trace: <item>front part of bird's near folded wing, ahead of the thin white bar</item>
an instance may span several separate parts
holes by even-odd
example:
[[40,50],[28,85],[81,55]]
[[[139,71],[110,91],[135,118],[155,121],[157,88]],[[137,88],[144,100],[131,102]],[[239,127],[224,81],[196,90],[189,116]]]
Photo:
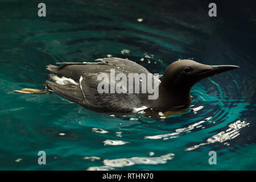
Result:
[[[80,86],[84,94],[84,104],[104,112],[111,113],[132,113],[137,108],[143,108],[137,94],[129,93],[99,93],[98,85],[102,80],[98,80],[100,73],[85,73],[80,78]],[[105,73],[110,77],[109,73]],[[104,79],[104,81],[106,81]],[[114,81],[115,82],[115,81]],[[114,82],[110,81],[109,88]],[[108,84],[109,82],[105,82]],[[116,84],[116,83],[115,83]],[[102,87],[101,87],[102,88]],[[125,92],[126,88],[122,88]]]

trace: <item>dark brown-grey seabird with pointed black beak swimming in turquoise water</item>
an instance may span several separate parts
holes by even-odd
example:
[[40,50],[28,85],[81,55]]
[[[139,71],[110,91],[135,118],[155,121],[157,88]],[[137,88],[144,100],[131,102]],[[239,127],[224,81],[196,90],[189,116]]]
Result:
[[[56,93],[87,109],[101,113],[128,114],[149,109],[161,112],[179,111],[187,109],[191,105],[190,90],[197,82],[203,78],[238,68],[236,65],[205,65],[193,60],[178,60],[168,65],[162,81],[160,81],[158,76],[148,72],[142,65],[116,57],[97,59],[93,63],[62,62],[56,64],[59,64],[60,67],[47,65],[48,71],[51,72],[50,79],[55,82],[47,80],[44,85],[45,90],[22,89],[14,91],[26,94]],[[123,91],[121,93],[99,93],[98,86],[102,80],[98,76],[101,73],[111,76],[110,69],[114,69],[114,75],[122,73],[129,77],[129,73],[143,73],[150,76],[152,79],[147,84],[156,83],[154,89],[158,90],[158,97],[149,99],[150,93],[148,92],[129,93],[127,91],[129,79],[125,80],[128,82],[128,86],[120,88]],[[118,85],[120,80],[110,81],[110,87]],[[133,82],[132,86],[139,87],[143,83],[140,80]]]

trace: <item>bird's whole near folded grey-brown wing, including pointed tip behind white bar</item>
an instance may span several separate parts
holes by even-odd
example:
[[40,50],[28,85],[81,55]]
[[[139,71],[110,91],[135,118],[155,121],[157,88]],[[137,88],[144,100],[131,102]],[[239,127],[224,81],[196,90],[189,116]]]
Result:
[[[98,80],[100,73],[85,73],[80,77],[80,83],[57,84],[56,82],[46,81],[46,88],[75,102],[81,106],[95,111],[105,113],[135,113],[146,109],[141,104],[138,94],[129,93],[99,93],[98,85],[102,80]],[[105,73],[110,77],[110,73]],[[107,84],[107,83],[106,83]],[[115,83],[116,84],[116,83]],[[110,86],[113,82],[110,82]],[[126,90],[126,88],[122,88]]]

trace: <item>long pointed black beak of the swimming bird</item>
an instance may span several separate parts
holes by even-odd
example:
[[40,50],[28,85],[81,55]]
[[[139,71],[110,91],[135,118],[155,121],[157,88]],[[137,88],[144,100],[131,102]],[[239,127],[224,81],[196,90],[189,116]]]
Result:
[[239,68],[239,67],[236,65],[210,65],[210,68],[207,71],[201,72],[197,76],[206,78],[206,77],[217,75],[219,73],[227,72],[236,68]]

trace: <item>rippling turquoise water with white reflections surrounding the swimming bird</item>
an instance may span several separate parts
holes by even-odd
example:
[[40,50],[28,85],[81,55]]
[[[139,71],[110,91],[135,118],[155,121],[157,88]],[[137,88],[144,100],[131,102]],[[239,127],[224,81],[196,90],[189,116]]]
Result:
[[[36,1],[1,1],[1,170],[256,169],[252,3],[217,3],[217,18],[200,1],[44,3],[47,16],[39,18]],[[200,81],[191,110],[162,119],[96,113],[56,94],[13,92],[42,89],[47,64],[107,56],[160,74],[178,59],[240,68]],[[38,164],[42,150],[46,165]],[[217,165],[208,163],[212,150]]]

